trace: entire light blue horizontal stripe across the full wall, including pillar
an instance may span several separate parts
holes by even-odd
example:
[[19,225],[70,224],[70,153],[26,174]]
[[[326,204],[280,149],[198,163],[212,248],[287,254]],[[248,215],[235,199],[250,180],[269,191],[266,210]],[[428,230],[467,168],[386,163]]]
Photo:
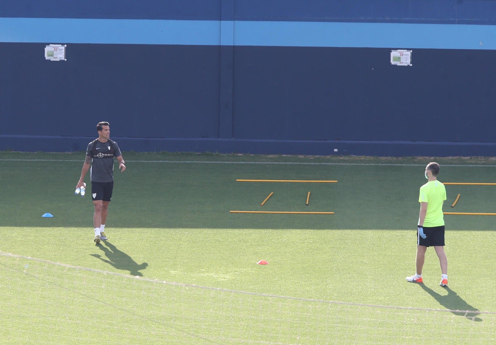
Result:
[[0,18],[0,42],[496,49],[496,26],[404,23]]

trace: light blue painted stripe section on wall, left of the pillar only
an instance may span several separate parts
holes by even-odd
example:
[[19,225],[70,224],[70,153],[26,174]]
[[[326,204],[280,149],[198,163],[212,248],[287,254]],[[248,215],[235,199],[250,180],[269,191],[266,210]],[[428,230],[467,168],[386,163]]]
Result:
[[213,20],[0,18],[0,42],[216,46],[219,32]]

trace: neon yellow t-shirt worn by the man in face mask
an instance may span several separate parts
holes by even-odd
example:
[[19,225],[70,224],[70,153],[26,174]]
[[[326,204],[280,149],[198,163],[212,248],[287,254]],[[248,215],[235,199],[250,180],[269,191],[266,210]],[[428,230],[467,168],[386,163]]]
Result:
[[429,181],[420,187],[419,202],[427,202],[427,214],[424,226],[444,225],[442,202],[446,200],[446,189],[439,181]]

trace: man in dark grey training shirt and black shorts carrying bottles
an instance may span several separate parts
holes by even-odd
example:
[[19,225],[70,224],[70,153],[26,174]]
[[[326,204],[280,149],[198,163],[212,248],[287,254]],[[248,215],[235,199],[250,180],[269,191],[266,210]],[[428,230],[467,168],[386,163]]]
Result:
[[90,169],[91,198],[95,206],[93,214],[93,225],[95,227],[95,243],[100,240],[107,240],[105,236],[105,223],[109,212],[109,203],[112,199],[114,188],[114,157],[119,162],[121,172],[125,170],[124,158],[117,143],[110,140],[110,124],[99,122],[96,126],[98,139],[88,144],[86,149],[86,160],[81,170],[81,177],[76,188],[80,188],[84,183],[84,176]]

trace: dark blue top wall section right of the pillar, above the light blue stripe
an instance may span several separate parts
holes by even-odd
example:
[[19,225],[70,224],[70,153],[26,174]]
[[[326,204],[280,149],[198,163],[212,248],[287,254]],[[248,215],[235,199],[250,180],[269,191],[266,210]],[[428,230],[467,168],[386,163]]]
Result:
[[495,24],[493,0],[245,0],[236,20]]

